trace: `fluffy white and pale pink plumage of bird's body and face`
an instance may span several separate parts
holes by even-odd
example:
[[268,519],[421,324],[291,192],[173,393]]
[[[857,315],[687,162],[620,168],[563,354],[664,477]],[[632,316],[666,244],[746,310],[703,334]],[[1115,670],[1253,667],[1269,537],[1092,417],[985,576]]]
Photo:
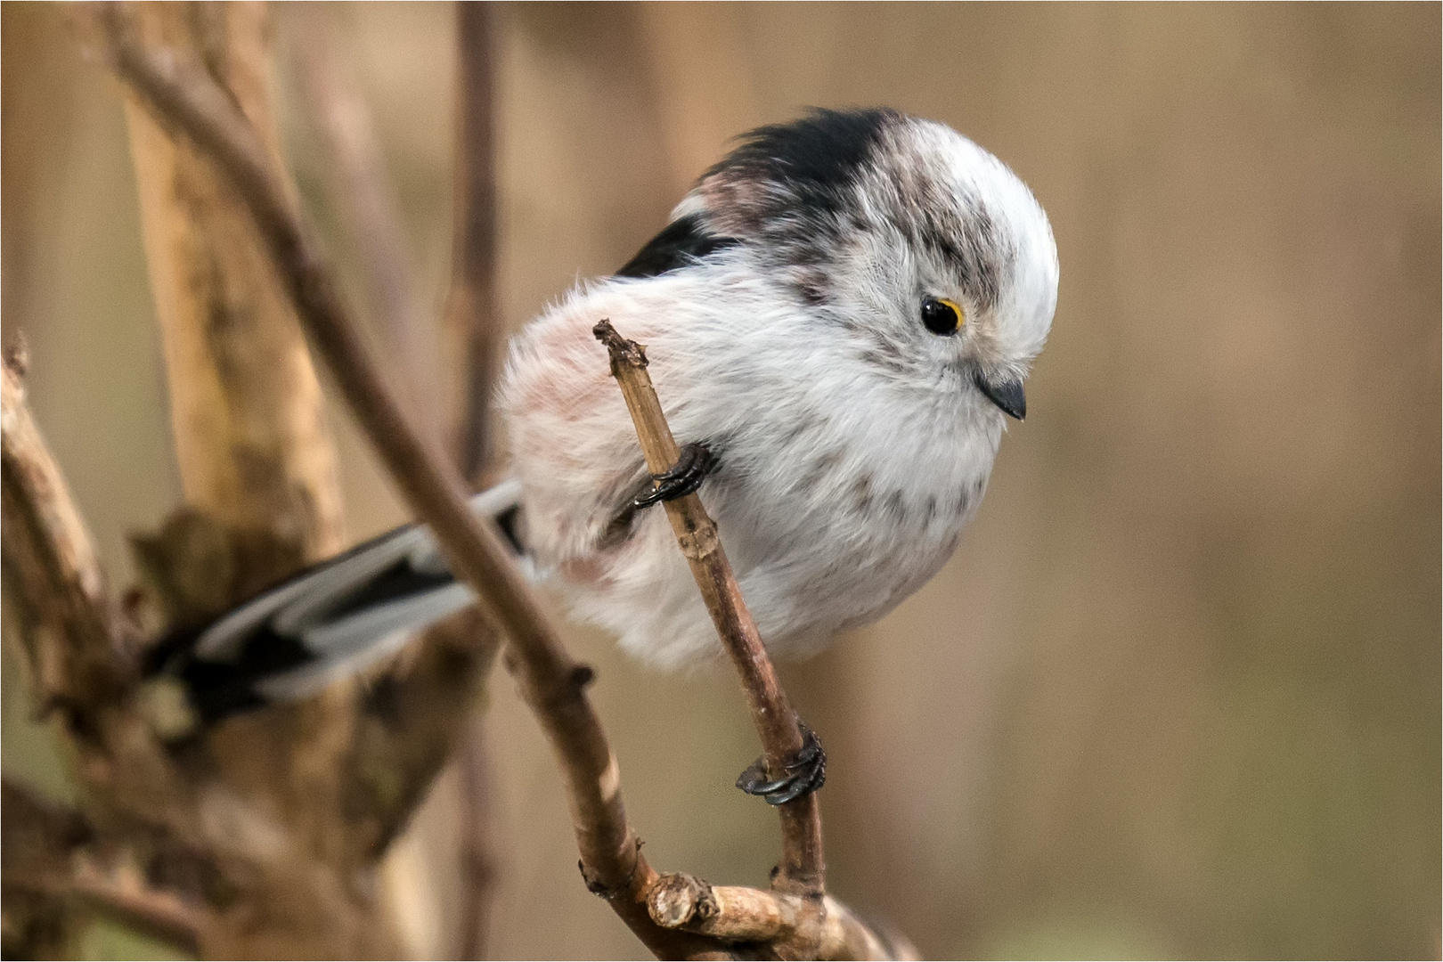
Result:
[[[889,224],[921,179],[954,198],[954,216],[990,224],[996,303]],[[996,157],[928,121],[892,130],[850,189],[880,229],[835,251],[825,304],[799,297],[772,251],[739,244],[661,277],[584,284],[512,345],[502,412],[527,547],[577,616],[649,662],[720,646],[659,511],[608,537],[646,475],[597,320],[646,345],[677,438],[717,449],[701,499],[775,653],[810,653],[921,587],[986,490],[1003,414],[955,366],[1022,378],[1042,349],[1058,283],[1046,216]],[[703,180],[672,218],[716,215],[719,193]],[[960,333],[924,329],[924,293],[965,307]]]

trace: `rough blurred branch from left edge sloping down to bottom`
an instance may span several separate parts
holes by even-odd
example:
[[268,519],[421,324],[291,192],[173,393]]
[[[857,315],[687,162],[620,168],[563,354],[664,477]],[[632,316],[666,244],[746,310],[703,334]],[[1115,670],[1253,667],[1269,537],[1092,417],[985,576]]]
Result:
[[[293,844],[289,826],[225,783],[203,754],[176,754],[159,741],[137,700],[146,688],[136,687],[127,655],[131,629],[110,614],[115,606],[94,587],[102,578],[94,552],[85,548],[84,525],[9,368],[0,394],[6,600],[19,603],[16,635],[33,662],[32,684],[40,697],[51,692],[62,710],[87,819],[100,832],[97,847],[104,847],[105,861],[134,864],[141,877],[165,878],[196,904],[244,906],[244,912],[209,916],[215,925],[202,933],[208,955],[267,958],[273,946],[286,945],[316,958],[395,958],[374,907],[346,899],[333,868],[319,862],[309,845]],[[278,746],[284,759],[287,747]],[[254,744],[248,754],[261,760],[257,767],[268,760]],[[9,802],[3,812],[12,813]],[[10,851],[0,845],[0,854]],[[23,914],[39,923],[26,926],[39,929],[25,936],[29,940],[43,939],[45,929],[55,932],[65,917],[56,914],[56,904],[79,906],[79,896],[71,897],[71,878],[46,890],[33,884],[38,877],[7,870],[0,878],[12,891],[19,891],[13,883],[32,883],[17,894],[19,903],[29,904]],[[81,881],[85,899],[105,901],[101,907],[113,914],[143,907],[110,899],[105,884]]]

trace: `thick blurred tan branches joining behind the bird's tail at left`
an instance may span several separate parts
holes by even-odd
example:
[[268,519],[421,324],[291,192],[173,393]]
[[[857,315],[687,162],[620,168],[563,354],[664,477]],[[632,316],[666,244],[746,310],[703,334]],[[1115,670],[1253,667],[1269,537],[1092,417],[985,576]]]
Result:
[[[264,14],[260,4],[140,4],[84,9],[76,26],[101,49],[154,45],[167,65],[205,78],[214,102],[251,118],[241,121],[254,131],[248,147],[270,167]],[[266,238],[188,140],[137,111],[131,128],[190,500],[136,548],[156,620],[183,625],[339,548],[339,498],[319,385]],[[293,211],[289,185],[273,186]],[[446,760],[495,633],[463,613],[449,639],[429,636],[365,692],[333,687],[192,731],[182,701],[139,684],[137,630],[105,593],[29,418],[23,365],[7,361],[6,597],[36,700],[76,754],[91,826],[72,839],[72,858],[55,861],[69,874],[6,900],[7,946],[22,933],[72,952],[76,910],[100,909],[149,919],[152,933],[212,958],[394,958],[391,916],[368,880]],[[14,822],[36,811],[6,805],[7,837],[51,838]]]

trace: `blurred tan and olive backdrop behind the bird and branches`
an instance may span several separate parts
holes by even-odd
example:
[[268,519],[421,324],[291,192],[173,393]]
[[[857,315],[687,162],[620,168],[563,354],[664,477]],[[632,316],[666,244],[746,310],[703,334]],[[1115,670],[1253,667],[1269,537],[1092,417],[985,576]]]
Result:
[[[289,160],[325,226],[326,156],[286,66],[316,12],[274,13]],[[455,9],[320,13],[439,314]],[[498,16],[511,329],[628,260],[729,137],[807,105],[945,121],[1052,218],[1062,288],[1030,417],[957,557],[785,669],[830,757],[834,894],[932,958],[1439,958],[1439,6]],[[0,37],[3,322],[124,586],[126,534],[179,499],[124,115],[63,10],[4,3]],[[332,424],[349,535],[405,521],[335,404]],[[778,831],[732,787],[756,756],[734,681],[570,643],[597,668],[651,862],[765,884]],[[72,790],[30,711],[6,671],[6,770]],[[488,953],[641,958],[580,884],[554,763],[504,672],[482,724]],[[455,867],[424,828],[444,789],[392,860],[434,955]],[[117,946],[95,950],[150,950]]]

